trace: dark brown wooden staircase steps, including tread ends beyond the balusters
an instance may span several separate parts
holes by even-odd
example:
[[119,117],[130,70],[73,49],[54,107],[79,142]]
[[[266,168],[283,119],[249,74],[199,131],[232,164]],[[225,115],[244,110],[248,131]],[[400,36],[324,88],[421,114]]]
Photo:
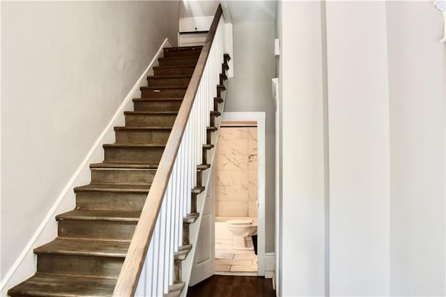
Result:
[[[76,208],[56,216],[58,237],[34,250],[36,274],[10,289],[10,296],[112,296],[201,48],[164,49],[148,86],[141,87],[141,98],[133,99],[134,110],[124,113],[125,125],[114,128],[116,142],[104,144],[104,162],[90,165],[91,183],[74,189]],[[169,296],[179,296],[185,285],[180,265],[191,249],[189,224],[199,215],[196,199],[204,190],[201,174],[210,167],[206,151],[213,148],[210,135],[217,130],[229,59],[224,56]]]

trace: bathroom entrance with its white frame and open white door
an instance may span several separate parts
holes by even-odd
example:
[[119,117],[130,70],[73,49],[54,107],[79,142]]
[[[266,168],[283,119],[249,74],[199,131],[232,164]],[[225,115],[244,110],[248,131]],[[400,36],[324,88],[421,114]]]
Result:
[[[199,218],[190,286],[214,274],[265,275],[265,116],[265,112],[223,112],[220,117],[222,137],[213,139],[216,151]],[[222,171],[226,174],[218,176]],[[257,239],[257,254],[252,236]]]

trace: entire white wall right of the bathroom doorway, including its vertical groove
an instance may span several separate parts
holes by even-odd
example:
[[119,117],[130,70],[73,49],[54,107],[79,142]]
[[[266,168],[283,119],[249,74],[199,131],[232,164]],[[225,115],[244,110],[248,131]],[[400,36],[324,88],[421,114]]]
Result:
[[429,1],[322,3],[277,13],[282,296],[445,296],[442,15]]

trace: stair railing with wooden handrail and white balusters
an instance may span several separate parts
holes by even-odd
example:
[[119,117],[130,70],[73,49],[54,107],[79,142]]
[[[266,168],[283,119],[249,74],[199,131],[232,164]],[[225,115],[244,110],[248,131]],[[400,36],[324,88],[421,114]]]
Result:
[[[174,280],[174,253],[183,245],[183,218],[191,213],[206,127],[224,61],[219,5],[183,104],[167,140],[141,217],[118,277],[114,296],[163,296]],[[206,152],[205,152],[206,153]]]

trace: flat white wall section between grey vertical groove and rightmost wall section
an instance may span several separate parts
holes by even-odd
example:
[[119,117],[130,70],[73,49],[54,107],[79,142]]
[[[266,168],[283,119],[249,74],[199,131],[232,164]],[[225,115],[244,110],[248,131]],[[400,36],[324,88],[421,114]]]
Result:
[[384,2],[327,2],[330,295],[389,293]]

